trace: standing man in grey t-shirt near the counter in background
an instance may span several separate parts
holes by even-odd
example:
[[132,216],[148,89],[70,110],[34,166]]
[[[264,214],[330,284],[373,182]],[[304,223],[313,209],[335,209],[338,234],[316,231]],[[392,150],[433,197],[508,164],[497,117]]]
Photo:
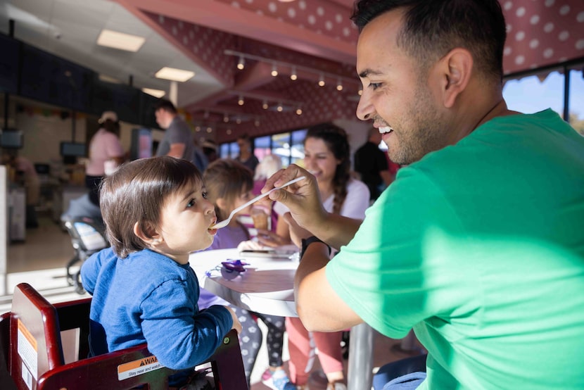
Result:
[[207,159],[202,151],[197,151],[193,133],[189,125],[179,116],[172,102],[160,99],[155,106],[156,122],[165,129],[163,140],[158,144],[156,156],[172,156],[191,161],[198,170],[207,168]]

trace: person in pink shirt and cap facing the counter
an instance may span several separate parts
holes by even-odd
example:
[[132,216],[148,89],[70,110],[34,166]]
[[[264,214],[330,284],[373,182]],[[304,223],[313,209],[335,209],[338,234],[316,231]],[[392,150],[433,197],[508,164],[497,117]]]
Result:
[[89,200],[99,206],[99,183],[111,170],[125,161],[120,143],[120,122],[114,111],[104,111],[99,118],[100,128],[89,142],[89,163],[85,168],[85,185]]

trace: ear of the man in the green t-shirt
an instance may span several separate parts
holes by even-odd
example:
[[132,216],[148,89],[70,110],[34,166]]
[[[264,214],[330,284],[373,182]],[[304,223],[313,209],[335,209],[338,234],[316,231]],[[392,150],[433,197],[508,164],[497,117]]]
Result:
[[474,67],[472,55],[470,51],[457,47],[440,59],[436,66],[443,106],[452,108],[471,80]]

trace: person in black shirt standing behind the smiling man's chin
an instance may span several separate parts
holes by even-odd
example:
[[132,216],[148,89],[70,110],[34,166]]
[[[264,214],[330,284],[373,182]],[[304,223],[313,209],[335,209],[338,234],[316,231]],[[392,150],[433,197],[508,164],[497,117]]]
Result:
[[361,175],[361,181],[369,187],[369,200],[374,201],[381,191],[393,182],[389,172],[386,153],[379,149],[381,133],[375,127],[369,129],[369,138],[355,152],[355,171]]

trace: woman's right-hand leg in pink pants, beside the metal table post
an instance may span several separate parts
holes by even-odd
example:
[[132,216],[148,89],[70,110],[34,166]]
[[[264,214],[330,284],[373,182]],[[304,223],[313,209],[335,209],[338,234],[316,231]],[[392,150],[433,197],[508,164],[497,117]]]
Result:
[[345,382],[343,374],[343,332],[312,332],[318,348],[318,359],[330,384]]

